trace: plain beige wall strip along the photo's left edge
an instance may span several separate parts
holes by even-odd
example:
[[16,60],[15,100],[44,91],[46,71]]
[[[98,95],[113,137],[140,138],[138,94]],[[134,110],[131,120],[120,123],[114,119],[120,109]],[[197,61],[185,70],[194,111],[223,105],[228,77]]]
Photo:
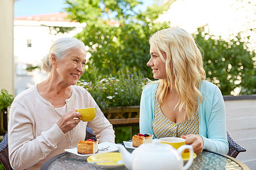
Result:
[[0,1],[0,90],[14,94],[13,18],[14,1]]

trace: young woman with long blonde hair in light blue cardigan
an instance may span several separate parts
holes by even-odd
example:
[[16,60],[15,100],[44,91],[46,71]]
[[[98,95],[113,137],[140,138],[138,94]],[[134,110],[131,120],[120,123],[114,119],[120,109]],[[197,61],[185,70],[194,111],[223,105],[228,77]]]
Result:
[[220,89],[205,81],[203,57],[195,40],[181,28],[150,37],[155,82],[143,88],[140,133],[154,138],[181,137],[195,153],[228,152],[225,106]]

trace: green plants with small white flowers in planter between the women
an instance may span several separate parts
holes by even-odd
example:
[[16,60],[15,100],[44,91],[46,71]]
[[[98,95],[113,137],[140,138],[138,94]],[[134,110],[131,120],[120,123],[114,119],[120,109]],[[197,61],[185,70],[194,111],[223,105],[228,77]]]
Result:
[[85,71],[77,85],[84,87],[101,109],[139,105],[142,87],[148,81],[140,71],[118,71],[108,76],[101,75],[94,66],[89,70]]

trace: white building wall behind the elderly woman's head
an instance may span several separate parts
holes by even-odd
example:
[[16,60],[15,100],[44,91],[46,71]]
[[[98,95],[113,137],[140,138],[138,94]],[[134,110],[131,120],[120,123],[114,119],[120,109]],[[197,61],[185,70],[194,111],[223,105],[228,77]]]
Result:
[[[52,33],[50,26],[76,27],[68,33]],[[84,24],[71,22],[14,20],[15,95],[47,78],[43,70],[27,71],[30,66],[39,66],[49,52],[52,42],[60,37],[73,37],[82,31]],[[27,45],[31,42],[31,46]]]

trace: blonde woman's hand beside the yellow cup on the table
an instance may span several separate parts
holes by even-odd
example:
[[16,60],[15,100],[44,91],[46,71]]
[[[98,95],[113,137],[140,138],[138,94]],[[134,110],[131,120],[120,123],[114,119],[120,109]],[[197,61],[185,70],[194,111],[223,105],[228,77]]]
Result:
[[201,152],[203,152],[204,140],[200,135],[181,135],[181,138],[185,139],[186,144],[189,144],[193,147],[193,150],[196,154],[200,154]]

